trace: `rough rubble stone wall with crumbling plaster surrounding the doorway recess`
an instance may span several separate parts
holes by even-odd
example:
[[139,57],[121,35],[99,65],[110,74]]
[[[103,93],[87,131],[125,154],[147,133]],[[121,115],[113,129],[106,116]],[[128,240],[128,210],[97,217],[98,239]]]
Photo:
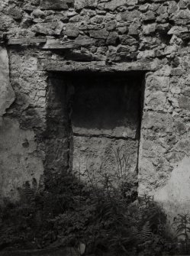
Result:
[[189,42],[188,0],[1,1],[1,196],[69,167],[69,117],[50,73],[131,71],[145,86],[138,192],[170,215],[189,210]]

